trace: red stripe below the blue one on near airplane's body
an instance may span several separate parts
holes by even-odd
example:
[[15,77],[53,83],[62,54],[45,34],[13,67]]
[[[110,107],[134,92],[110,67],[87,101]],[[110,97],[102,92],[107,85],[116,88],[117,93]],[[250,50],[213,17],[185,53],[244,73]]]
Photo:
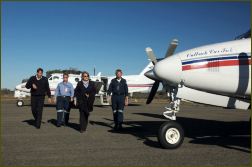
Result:
[[249,60],[215,61],[215,62],[206,62],[205,64],[201,63],[201,64],[185,65],[182,67],[182,71],[200,69],[200,68],[240,66],[240,65],[251,65],[251,59],[249,59]]

